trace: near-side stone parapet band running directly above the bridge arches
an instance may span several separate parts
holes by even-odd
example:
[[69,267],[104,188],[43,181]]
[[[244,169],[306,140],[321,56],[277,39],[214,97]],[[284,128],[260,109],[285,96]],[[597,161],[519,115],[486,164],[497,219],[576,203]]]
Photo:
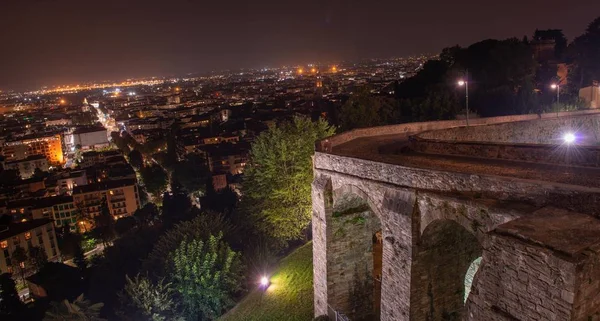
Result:
[[498,176],[403,167],[315,153],[315,168],[336,177],[348,175],[398,187],[439,192],[469,192],[505,201],[556,206],[600,216],[600,189]]

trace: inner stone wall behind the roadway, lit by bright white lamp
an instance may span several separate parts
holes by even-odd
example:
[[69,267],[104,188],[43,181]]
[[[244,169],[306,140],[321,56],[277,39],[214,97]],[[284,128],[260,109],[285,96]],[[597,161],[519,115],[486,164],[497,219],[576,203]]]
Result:
[[576,143],[580,145],[600,144],[600,114],[448,128],[426,131],[418,137],[442,141],[560,145],[565,133],[574,133]]

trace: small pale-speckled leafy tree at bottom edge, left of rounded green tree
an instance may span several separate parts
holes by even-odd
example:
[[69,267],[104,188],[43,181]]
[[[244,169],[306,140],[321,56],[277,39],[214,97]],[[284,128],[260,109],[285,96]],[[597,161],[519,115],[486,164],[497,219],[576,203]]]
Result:
[[147,277],[125,276],[125,287],[119,293],[121,309],[117,315],[123,320],[176,321],[179,306],[171,283],[164,279],[152,283]]

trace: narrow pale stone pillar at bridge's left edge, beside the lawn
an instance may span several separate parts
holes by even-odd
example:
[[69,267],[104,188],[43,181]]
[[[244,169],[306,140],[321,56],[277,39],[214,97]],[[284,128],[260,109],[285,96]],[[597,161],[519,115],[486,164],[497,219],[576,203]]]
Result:
[[331,180],[316,176],[312,184],[313,284],[315,317],[327,311],[327,208],[331,208]]

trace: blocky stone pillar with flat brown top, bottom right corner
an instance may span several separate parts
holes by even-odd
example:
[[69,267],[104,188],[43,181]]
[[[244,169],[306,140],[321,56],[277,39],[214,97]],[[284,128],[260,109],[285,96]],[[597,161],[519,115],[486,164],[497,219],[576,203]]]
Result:
[[467,320],[597,320],[600,221],[558,209],[490,233]]

